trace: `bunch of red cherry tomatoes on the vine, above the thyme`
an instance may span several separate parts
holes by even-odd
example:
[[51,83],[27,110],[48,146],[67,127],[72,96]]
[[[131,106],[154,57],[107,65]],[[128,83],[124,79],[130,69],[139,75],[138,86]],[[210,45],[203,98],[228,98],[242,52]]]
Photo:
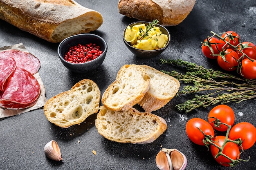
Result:
[[252,42],[241,42],[234,31],[208,36],[202,42],[202,52],[208,58],[217,59],[222,69],[236,70],[246,79],[256,79],[256,46]]

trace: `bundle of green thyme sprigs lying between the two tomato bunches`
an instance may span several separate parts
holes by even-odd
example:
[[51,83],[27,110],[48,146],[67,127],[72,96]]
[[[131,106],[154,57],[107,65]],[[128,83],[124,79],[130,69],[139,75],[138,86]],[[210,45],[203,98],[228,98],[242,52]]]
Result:
[[[160,59],[162,64],[171,64],[183,67],[186,73],[176,71],[162,72],[177,78],[186,84],[177,95],[195,94],[191,100],[177,104],[180,111],[186,113],[199,107],[207,107],[217,103],[240,103],[245,100],[256,98],[256,80],[247,80],[231,74],[223,73],[213,69],[207,69],[195,63],[190,63],[181,59]],[[206,94],[201,94],[205,92]]]

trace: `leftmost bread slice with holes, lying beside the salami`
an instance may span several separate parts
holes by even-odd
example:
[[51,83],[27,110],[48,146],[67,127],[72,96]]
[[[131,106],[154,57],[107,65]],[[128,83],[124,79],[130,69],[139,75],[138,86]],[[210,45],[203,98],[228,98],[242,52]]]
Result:
[[101,92],[96,83],[83,79],[70,90],[50,98],[44,106],[48,121],[61,128],[79,124],[99,111]]

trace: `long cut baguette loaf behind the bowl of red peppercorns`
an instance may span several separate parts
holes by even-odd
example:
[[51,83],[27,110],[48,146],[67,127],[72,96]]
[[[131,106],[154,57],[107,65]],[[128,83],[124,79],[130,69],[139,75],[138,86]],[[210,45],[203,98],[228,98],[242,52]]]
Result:
[[49,42],[98,29],[103,18],[73,0],[0,0],[0,19]]

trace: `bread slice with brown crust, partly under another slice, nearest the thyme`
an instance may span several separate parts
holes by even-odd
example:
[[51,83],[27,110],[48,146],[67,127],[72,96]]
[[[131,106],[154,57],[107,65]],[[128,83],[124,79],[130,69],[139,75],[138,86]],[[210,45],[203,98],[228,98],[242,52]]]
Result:
[[172,76],[164,74],[148,65],[140,65],[150,77],[148,92],[139,101],[139,105],[146,111],[152,112],[166,105],[177,94],[180,82]]

